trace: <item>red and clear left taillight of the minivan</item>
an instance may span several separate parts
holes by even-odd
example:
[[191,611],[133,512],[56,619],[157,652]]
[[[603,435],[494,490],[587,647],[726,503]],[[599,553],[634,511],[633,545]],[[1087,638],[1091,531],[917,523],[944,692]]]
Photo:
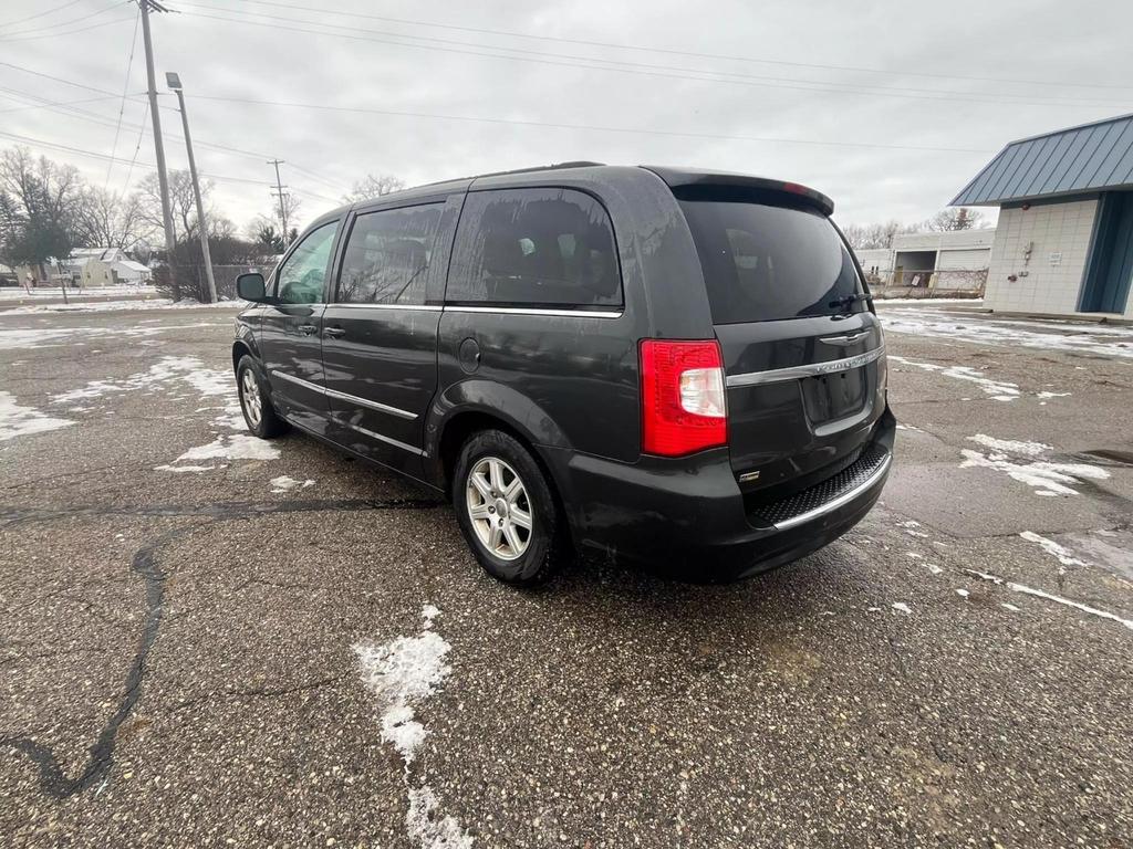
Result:
[[641,343],[641,451],[675,457],[727,444],[719,343]]

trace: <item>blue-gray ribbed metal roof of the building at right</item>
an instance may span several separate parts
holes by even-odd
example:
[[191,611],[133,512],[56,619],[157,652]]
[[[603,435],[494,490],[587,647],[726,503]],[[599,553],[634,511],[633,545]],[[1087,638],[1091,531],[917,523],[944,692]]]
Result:
[[1012,142],[951,206],[1117,188],[1133,188],[1133,114]]

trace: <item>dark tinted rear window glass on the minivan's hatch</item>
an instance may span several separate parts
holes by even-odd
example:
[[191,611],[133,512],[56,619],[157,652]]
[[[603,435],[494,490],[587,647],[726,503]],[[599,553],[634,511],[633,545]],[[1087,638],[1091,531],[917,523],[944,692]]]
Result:
[[861,311],[850,251],[818,212],[742,200],[681,200],[714,324]]

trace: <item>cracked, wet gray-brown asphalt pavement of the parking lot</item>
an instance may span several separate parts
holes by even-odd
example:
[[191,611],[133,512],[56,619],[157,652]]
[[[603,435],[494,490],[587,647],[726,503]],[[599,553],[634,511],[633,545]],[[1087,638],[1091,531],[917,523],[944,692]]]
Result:
[[[231,329],[0,315],[0,844],[1133,844],[1127,328],[891,333],[896,463],[845,538],[535,592],[393,474],[246,456]],[[428,629],[407,762],[355,646]]]

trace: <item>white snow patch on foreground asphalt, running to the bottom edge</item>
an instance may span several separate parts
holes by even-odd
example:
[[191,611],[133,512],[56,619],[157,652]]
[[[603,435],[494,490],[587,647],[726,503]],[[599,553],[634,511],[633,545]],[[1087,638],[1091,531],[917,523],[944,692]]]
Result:
[[[406,829],[421,849],[470,849],[472,838],[452,816],[437,814],[440,800],[424,781],[414,783],[409,766],[427,730],[416,719],[416,710],[432,696],[452,668],[444,662],[451,646],[433,631],[441,611],[432,604],[421,609],[424,627],[415,637],[353,646],[361,667],[363,683],[382,707],[382,739],[393,745],[406,764],[404,782],[409,795]],[[423,775],[424,779],[424,775]]]

